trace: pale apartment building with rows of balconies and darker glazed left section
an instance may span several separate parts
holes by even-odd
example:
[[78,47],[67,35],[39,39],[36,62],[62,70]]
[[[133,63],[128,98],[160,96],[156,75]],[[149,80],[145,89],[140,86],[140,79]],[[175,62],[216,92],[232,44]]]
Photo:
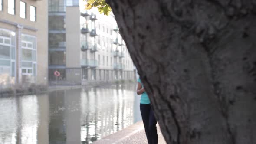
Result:
[[49,82],[86,85],[134,79],[114,16],[85,10],[85,4],[49,0]]

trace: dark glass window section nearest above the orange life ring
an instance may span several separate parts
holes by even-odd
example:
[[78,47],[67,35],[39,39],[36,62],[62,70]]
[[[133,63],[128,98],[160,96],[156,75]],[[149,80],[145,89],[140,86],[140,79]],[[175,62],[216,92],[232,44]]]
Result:
[[65,51],[49,51],[49,65],[66,65]]

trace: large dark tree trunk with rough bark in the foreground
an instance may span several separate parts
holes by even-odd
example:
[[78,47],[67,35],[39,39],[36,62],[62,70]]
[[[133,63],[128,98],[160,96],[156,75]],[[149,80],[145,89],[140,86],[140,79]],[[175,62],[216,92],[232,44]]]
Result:
[[256,0],[106,0],[168,144],[256,144]]

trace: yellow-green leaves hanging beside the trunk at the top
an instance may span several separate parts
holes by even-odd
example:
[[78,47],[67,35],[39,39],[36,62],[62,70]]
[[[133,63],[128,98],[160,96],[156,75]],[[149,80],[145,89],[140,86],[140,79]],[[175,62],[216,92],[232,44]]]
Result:
[[86,9],[90,10],[92,7],[97,7],[100,13],[108,15],[111,12],[111,7],[105,0],[87,0]]

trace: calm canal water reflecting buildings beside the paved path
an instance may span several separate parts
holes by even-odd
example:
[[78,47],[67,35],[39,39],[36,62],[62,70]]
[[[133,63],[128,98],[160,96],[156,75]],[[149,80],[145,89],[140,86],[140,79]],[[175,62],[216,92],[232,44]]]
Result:
[[135,84],[0,98],[0,144],[89,144],[141,120]]

